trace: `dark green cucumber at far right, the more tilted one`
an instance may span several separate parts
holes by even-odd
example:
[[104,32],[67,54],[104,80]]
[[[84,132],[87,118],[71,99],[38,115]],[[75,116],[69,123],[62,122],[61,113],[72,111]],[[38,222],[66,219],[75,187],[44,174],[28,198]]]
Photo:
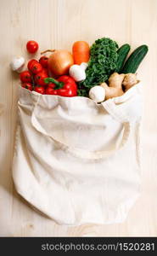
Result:
[[144,56],[147,54],[149,47],[145,44],[139,46],[132,52],[132,55],[127,59],[122,73],[136,73],[139,64],[143,61]]

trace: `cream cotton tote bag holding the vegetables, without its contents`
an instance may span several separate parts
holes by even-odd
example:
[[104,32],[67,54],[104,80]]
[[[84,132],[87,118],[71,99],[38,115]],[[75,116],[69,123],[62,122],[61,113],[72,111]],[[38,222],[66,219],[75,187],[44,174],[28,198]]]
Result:
[[140,192],[141,84],[97,104],[20,87],[13,178],[58,224],[114,224]]

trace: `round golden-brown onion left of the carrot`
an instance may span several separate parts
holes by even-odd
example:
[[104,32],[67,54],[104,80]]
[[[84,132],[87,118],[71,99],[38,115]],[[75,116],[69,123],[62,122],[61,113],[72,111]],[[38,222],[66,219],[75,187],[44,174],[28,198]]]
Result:
[[64,49],[55,50],[48,58],[48,67],[55,76],[68,74],[70,66],[73,64],[73,56]]

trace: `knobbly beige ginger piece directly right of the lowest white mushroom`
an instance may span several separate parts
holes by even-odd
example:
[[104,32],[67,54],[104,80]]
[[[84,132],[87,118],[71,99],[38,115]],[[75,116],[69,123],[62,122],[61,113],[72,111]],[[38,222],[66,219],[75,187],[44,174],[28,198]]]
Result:
[[122,81],[125,74],[113,73],[109,77],[109,86],[106,83],[100,84],[105,89],[105,100],[109,98],[122,96],[124,91],[122,90]]

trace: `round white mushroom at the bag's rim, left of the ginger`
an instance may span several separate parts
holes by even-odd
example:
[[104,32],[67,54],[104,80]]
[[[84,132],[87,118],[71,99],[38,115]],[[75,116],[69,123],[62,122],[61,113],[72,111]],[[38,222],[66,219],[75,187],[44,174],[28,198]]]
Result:
[[105,89],[104,87],[100,85],[93,86],[89,90],[89,97],[94,101],[94,102],[104,102],[105,99]]

